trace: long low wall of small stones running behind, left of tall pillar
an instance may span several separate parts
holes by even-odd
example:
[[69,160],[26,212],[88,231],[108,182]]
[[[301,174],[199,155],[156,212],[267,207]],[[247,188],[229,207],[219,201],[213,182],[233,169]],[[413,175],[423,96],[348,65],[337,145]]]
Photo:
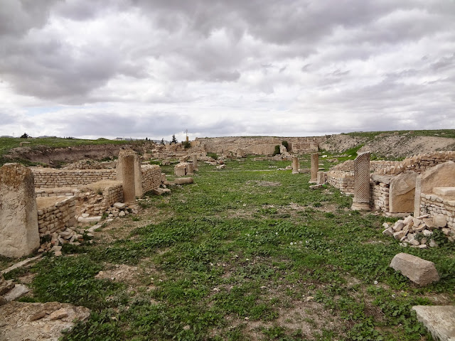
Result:
[[36,188],[77,187],[100,180],[117,180],[115,169],[31,168]]

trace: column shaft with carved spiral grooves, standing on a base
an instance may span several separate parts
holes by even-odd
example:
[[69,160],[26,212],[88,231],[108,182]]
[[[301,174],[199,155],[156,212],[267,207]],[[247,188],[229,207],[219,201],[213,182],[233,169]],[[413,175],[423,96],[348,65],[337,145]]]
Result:
[[351,210],[370,210],[370,152],[354,160],[354,199]]

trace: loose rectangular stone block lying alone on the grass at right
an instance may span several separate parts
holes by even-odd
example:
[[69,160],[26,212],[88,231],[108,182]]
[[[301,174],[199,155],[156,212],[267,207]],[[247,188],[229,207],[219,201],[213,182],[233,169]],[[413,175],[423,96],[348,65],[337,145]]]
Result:
[[390,267],[419,286],[439,281],[439,275],[432,261],[426,261],[412,254],[400,253],[393,257]]

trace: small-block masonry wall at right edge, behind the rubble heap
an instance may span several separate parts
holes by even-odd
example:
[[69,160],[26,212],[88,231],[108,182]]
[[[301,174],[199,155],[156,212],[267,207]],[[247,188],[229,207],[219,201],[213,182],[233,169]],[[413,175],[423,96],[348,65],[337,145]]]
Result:
[[[447,227],[451,230],[451,235],[455,236],[455,200],[453,197],[447,199],[436,194],[424,194],[421,195],[420,200],[420,214],[421,215],[444,215],[447,222]],[[443,229],[444,231],[444,229]],[[445,234],[449,234],[444,231]]]

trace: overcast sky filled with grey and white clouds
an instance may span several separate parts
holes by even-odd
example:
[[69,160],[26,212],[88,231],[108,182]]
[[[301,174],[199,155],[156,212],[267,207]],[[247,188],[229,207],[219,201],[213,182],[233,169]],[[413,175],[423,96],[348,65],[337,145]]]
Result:
[[455,128],[455,0],[0,0],[0,135]]

